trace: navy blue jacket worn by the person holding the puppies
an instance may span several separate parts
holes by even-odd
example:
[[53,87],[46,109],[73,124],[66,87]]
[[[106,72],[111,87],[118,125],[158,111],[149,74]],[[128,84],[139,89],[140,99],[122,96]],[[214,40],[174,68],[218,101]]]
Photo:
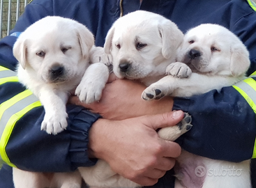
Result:
[[[24,31],[27,26],[47,15],[59,15],[85,24],[94,34],[96,45],[103,46],[112,23],[121,14],[139,9],[171,19],[184,33],[202,23],[227,27],[248,47],[251,61],[248,75],[256,70],[256,12],[245,0],[144,0],[142,4],[139,0],[123,0],[121,3],[117,0],[34,0],[27,6],[11,34]],[[7,36],[0,41],[0,65],[11,70],[17,64],[12,53],[16,39],[16,36]],[[17,83],[1,85],[0,104],[23,90]],[[72,171],[77,166],[93,165],[95,161],[86,154],[88,132],[99,116],[82,107],[68,105],[67,108],[68,130],[56,136],[40,131],[43,107],[24,115],[16,123],[6,146],[10,162],[20,169],[32,171]],[[253,157],[255,111],[232,86],[220,92],[176,98],[173,109],[188,111],[193,116],[193,129],[178,140],[184,149],[197,155],[232,162]],[[4,166],[0,171],[0,187],[13,188],[10,175],[10,169]],[[167,172],[153,187],[172,187],[173,180],[172,171]]]

